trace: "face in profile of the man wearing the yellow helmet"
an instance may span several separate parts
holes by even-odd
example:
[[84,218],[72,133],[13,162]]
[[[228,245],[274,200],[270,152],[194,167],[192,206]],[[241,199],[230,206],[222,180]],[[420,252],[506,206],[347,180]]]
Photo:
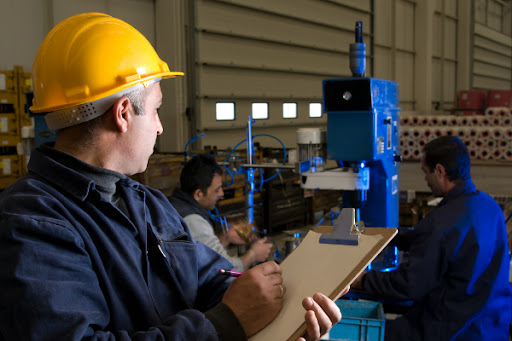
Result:
[[[163,132],[158,109],[162,104],[160,83],[154,83],[146,89],[144,113],[133,116],[132,132],[129,136],[128,153],[133,165],[133,174],[146,170],[149,157],[153,154],[156,137]],[[133,108],[132,108],[133,111]],[[131,173],[130,172],[130,173]]]

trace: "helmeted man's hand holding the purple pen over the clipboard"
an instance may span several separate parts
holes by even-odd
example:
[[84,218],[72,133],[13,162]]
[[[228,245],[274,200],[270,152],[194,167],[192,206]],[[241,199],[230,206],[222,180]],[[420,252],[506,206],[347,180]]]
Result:
[[285,292],[281,267],[275,262],[266,262],[231,282],[222,302],[235,313],[250,337],[277,316]]

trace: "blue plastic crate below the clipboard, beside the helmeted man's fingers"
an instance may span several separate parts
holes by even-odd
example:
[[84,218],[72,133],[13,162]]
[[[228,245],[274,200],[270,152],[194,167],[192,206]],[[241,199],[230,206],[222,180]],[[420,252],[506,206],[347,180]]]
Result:
[[380,302],[336,300],[342,319],[335,324],[330,340],[381,341],[384,340],[384,309]]

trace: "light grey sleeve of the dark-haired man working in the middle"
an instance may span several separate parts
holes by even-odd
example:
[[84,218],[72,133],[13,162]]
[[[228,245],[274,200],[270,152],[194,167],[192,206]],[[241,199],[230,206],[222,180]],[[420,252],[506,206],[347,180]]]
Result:
[[205,244],[212,250],[219,253],[222,257],[226,258],[236,270],[244,271],[244,264],[239,257],[232,257],[228,254],[224,246],[222,246],[219,238],[215,235],[213,228],[199,214],[190,214],[184,218],[187,226],[190,229],[192,237]]

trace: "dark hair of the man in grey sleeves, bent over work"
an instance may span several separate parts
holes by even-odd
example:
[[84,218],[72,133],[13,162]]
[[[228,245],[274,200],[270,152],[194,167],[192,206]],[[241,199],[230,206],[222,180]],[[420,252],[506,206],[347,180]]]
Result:
[[222,175],[222,168],[209,155],[196,155],[185,163],[180,175],[181,190],[189,194],[196,189],[206,193],[215,174]]

